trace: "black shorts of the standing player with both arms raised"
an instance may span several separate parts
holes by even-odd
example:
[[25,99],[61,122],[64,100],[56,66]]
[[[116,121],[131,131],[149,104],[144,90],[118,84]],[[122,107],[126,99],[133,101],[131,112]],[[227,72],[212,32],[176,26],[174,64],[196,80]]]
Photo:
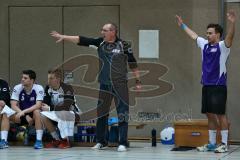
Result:
[[202,87],[202,113],[225,114],[226,101],[226,86]]

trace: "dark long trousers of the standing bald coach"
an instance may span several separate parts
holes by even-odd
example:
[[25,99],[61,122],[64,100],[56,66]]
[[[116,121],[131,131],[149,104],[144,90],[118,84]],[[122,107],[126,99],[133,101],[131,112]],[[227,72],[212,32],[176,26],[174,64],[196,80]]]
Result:
[[120,82],[114,85],[100,84],[98,108],[97,108],[97,143],[106,145],[106,133],[108,130],[108,116],[112,99],[114,98],[119,129],[119,145],[127,146],[128,141],[128,116],[129,96],[127,82]]

